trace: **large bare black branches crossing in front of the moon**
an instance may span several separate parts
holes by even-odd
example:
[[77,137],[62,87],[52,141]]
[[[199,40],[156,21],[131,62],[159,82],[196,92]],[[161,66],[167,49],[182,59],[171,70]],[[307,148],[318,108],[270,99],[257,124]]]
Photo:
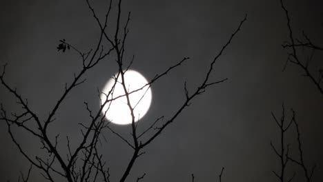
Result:
[[[131,14],[128,12],[126,20],[121,18],[123,12],[121,8],[121,0],[119,0],[117,1],[117,12],[115,14],[116,18],[111,21],[110,19],[113,17],[111,15],[112,1],[108,1],[104,21],[100,21],[97,16],[97,12],[94,8],[92,8],[90,1],[86,0],[86,4],[90,12],[92,12],[92,16],[97,22],[97,25],[99,26],[99,39],[97,39],[93,48],[90,48],[85,52],[77,48],[76,45],[66,41],[66,39],[59,40],[57,50],[62,50],[64,54],[67,54],[70,51],[77,52],[79,57],[81,57],[79,65],[80,68],[77,73],[74,73],[72,81],[70,81],[70,83],[65,83],[63,94],[61,94],[54,107],[49,111],[48,117],[40,118],[36,112],[30,108],[28,105],[28,100],[25,99],[26,97],[21,96],[21,93],[17,89],[13,88],[10,83],[7,83],[5,77],[7,65],[3,66],[3,70],[0,74],[1,85],[3,85],[3,87],[12,94],[12,96],[17,100],[17,105],[20,105],[22,108],[22,112],[14,112],[10,110],[9,112],[11,114],[8,114],[8,110],[6,110],[6,108],[1,104],[0,120],[6,121],[8,126],[8,134],[10,135],[14,145],[17,146],[19,152],[31,164],[30,170],[28,170],[28,175],[26,177],[21,175],[21,179],[23,181],[28,181],[28,179],[30,179],[30,172],[32,167],[34,167],[41,172],[43,179],[52,182],[59,181],[57,176],[65,179],[68,182],[110,182],[110,168],[104,161],[104,154],[101,154],[100,151],[101,140],[105,140],[105,136],[103,134],[105,130],[110,131],[112,134],[118,136],[121,141],[126,143],[130,149],[133,150],[133,154],[126,165],[125,170],[119,177],[120,182],[126,181],[135,165],[135,161],[139,158],[139,156],[145,154],[143,151],[144,148],[157,139],[157,136],[159,136],[161,132],[163,132],[168,125],[170,125],[170,123],[173,123],[179,114],[182,114],[183,110],[185,110],[188,105],[193,102],[193,99],[206,92],[207,88],[227,80],[227,78],[225,78],[220,79],[219,81],[211,81],[210,75],[212,72],[214,72],[217,59],[222,56],[222,53],[226,50],[226,48],[228,48],[228,45],[231,44],[246,21],[246,16],[244,16],[226,43],[224,43],[223,47],[210,61],[208,71],[204,73],[204,79],[196,88],[194,88],[194,92],[188,93],[185,83],[184,94],[186,99],[184,99],[182,104],[179,105],[179,108],[175,110],[175,114],[173,114],[170,119],[165,119],[165,121],[164,117],[152,120],[148,128],[142,128],[141,132],[139,132],[140,126],[138,126],[138,123],[136,123],[133,112],[136,105],[132,105],[130,103],[130,95],[138,92],[139,90],[143,90],[144,88],[151,87],[151,85],[159,81],[159,79],[166,77],[168,72],[172,72],[179,66],[182,66],[184,62],[188,61],[189,57],[184,57],[183,59],[177,61],[177,63],[174,65],[170,65],[165,69],[164,72],[155,74],[155,77],[150,79],[146,85],[142,85],[137,90],[129,91],[126,87],[128,83],[124,79],[124,74],[130,68],[130,65],[132,65],[134,57],[132,60],[130,60],[130,63],[126,65],[127,60],[124,59],[124,54],[126,52],[126,40],[129,32],[128,26],[131,20]],[[107,31],[108,26],[110,30],[114,30],[112,33]],[[106,48],[107,45],[108,48]],[[118,67],[117,74],[113,76],[113,79],[115,80],[114,85],[108,91],[108,93],[101,93],[106,96],[106,99],[102,101],[101,98],[99,98],[102,102],[100,102],[101,105],[98,110],[92,110],[88,103],[84,101],[85,110],[88,113],[88,121],[79,123],[79,131],[81,132],[82,136],[81,139],[75,143],[76,147],[72,148],[70,137],[66,136],[66,150],[58,150],[59,146],[64,145],[60,142],[61,136],[59,135],[59,131],[55,135],[51,135],[48,132],[49,128],[55,124],[55,117],[58,113],[57,111],[61,108],[62,103],[66,101],[68,95],[70,95],[70,93],[73,92],[78,85],[86,83],[85,74],[89,70],[92,70],[92,68],[95,68],[101,61],[108,61],[110,59],[108,55],[115,56],[115,61]],[[121,79],[121,85],[124,93],[117,97],[113,97],[118,78]],[[108,110],[104,111],[105,106],[108,105],[109,109],[111,103],[121,97],[126,98],[126,104],[128,105],[132,118],[130,131],[131,139],[128,139],[125,136],[122,136],[122,134],[116,132],[110,125],[110,121],[106,121],[106,114]],[[29,154],[28,151],[23,148],[21,143],[16,139],[16,135],[14,132],[12,132],[12,128],[26,131],[28,134],[34,136],[39,141],[39,146],[43,154]],[[150,133],[150,136],[148,136],[148,133]],[[144,136],[144,134],[147,136],[147,139],[145,140],[141,138],[141,136]],[[224,168],[222,168],[221,174],[219,174],[220,182],[223,170]],[[146,176],[146,173],[137,177],[137,182],[143,180],[144,176]]]

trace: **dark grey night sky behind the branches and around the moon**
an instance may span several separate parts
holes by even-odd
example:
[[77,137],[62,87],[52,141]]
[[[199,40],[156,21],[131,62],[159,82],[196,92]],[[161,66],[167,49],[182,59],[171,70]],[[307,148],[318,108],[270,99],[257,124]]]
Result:
[[[99,12],[106,1],[94,1]],[[302,77],[302,71],[286,61],[282,42],[288,40],[285,15],[279,1],[124,1],[130,10],[130,34],[127,55],[135,54],[133,69],[148,79],[183,57],[190,61],[153,85],[153,103],[141,121],[143,125],[164,115],[170,117],[184,99],[184,81],[188,87],[202,81],[208,63],[222,48],[239,21],[248,20],[233,43],[215,64],[212,80],[228,81],[209,88],[202,96],[146,148],[128,181],[144,172],[144,181],[214,181],[224,166],[224,181],[274,181],[272,170],[279,163],[270,141],[278,141],[278,128],[271,111],[280,114],[294,108],[302,130],[304,152],[309,165],[317,163],[314,181],[323,181],[323,98],[315,86]],[[322,44],[322,1],[286,1],[296,36],[302,30]],[[49,110],[81,69],[77,54],[57,52],[59,39],[67,39],[81,50],[95,45],[99,28],[85,1],[3,1],[1,13],[1,59],[8,63],[6,79],[27,97],[39,116]],[[125,17],[124,17],[125,18]],[[309,52],[304,52],[307,56]],[[322,65],[323,54],[315,53],[311,67]],[[321,61],[321,62],[320,62]],[[77,123],[88,119],[83,102],[98,109],[97,88],[102,88],[115,73],[114,59],[104,61],[86,74],[84,85],[66,99],[50,130],[62,138],[68,134],[78,141]],[[0,101],[7,110],[15,110],[15,100],[0,87]],[[115,130],[130,136],[129,127]],[[23,132],[18,138],[31,154],[41,154],[39,143]],[[130,158],[130,148],[106,132],[104,154],[112,179],[119,179]],[[290,133],[295,144],[295,133]],[[9,139],[5,123],[0,123],[0,180],[16,179],[28,163]],[[62,141],[65,142],[65,141]],[[66,150],[62,143],[61,150]],[[298,174],[301,175],[301,174]],[[37,171],[33,181],[42,181]]]

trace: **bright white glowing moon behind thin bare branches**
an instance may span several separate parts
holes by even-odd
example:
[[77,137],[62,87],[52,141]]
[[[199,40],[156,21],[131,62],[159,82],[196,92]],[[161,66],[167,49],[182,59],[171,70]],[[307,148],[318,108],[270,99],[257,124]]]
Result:
[[[110,92],[113,85],[115,88],[113,94],[108,96],[108,99],[114,99],[119,97],[112,102],[106,103],[102,110],[103,114],[106,114],[106,119],[112,123],[119,125],[127,125],[132,123],[132,117],[130,108],[128,106],[127,98],[125,96],[124,87],[121,84],[121,74],[115,84],[115,79],[110,79],[104,86],[101,93],[101,104],[106,101],[106,94]],[[132,92],[139,88],[144,87],[148,83],[144,76],[135,70],[127,70],[124,73],[124,83],[126,90]],[[121,97],[120,97],[121,96]],[[130,105],[133,108],[133,114],[135,115],[135,122],[139,121],[148,112],[152,99],[151,89],[146,85],[141,90],[129,94]],[[108,110],[108,111],[107,111]]]

